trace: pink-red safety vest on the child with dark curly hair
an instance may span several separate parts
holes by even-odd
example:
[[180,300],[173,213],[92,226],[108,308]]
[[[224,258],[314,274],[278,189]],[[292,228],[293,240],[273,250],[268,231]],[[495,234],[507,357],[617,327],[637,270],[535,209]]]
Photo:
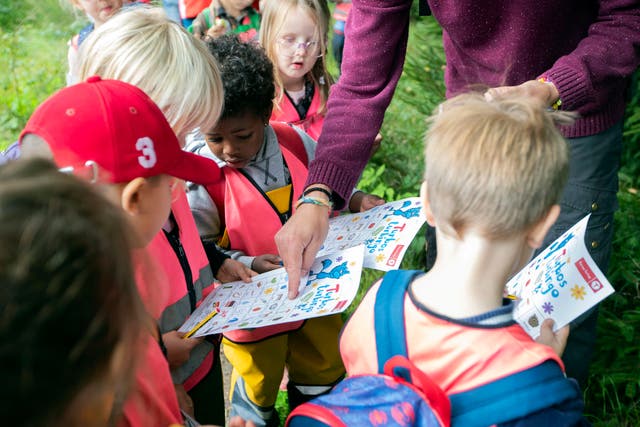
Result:
[[[292,200],[300,197],[307,179],[308,169],[292,150],[286,148],[293,144],[303,145],[297,132],[291,132],[296,141],[282,142],[284,133],[278,132],[279,147],[291,174],[293,185]],[[286,135],[288,135],[287,133]],[[225,173],[226,188],[224,191],[225,226],[232,249],[238,249],[250,256],[277,254],[274,236],[282,228],[279,214],[264,198],[263,194],[239,171],[222,168]],[[212,192],[209,194],[214,197]],[[215,199],[214,199],[215,200]],[[293,207],[292,207],[293,210]],[[299,329],[303,321],[283,323],[256,329],[231,331],[224,336],[234,342],[253,342],[282,333]]]

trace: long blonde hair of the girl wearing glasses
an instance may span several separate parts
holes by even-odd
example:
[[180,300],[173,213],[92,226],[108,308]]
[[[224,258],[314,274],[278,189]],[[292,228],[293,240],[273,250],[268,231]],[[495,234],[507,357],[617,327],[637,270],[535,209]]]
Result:
[[316,59],[308,77],[320,88],[320,109],[319,113],[325,111],[327,99],[329,98],[329,87],[333,83],[333,79],[327,70],[327,40],[329,32],[329,20],[331,13],[326,1],[322,0],[278,0],[265,2],[262,12],[262,21],[260,23],[260,44],[267,52],[267,56],[273,62],[274,79],[276,84],[276,98],[274,100],[276,108],[280,105],[284,96],[284,85],[280,78],[280,72],[277,66],[276,45],[280,32],[283,30],[284,21],[287,15],[294,9],[299,8],[301,11],[309,14],[313,22],[318,27],[318,42],[320,43],[321,57]]

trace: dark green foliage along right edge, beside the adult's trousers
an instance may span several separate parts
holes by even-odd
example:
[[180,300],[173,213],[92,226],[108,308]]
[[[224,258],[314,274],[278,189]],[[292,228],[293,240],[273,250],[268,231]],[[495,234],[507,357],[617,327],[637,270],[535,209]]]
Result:
[[616,293],[601,305],[597,351],[585,390],[587,411],[598,426],[640,424],[640,82],[635,77],[608,274]]

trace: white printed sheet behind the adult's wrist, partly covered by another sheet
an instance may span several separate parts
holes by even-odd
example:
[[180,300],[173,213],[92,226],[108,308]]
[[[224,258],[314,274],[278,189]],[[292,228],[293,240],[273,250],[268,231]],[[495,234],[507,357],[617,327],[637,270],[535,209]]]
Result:
[[418,197],[389,202],[366,212],[329,221],[329,233],[319,254],[364,244],[363,266],[389,271],[400,262],[425,217]]

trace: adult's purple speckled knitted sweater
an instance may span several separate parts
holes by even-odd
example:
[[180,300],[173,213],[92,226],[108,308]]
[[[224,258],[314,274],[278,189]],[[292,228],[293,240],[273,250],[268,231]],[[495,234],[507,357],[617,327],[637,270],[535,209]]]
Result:
[[[447,96],[470,86],[545,76],[562,108],[580,113],[566,137],[601,132],[624,115],[640,62],[639,0],[429,0],[443,28]],[[402,72],[411,0],[353,0],[342,75],[331,89],[308,184],[348,199]]]

